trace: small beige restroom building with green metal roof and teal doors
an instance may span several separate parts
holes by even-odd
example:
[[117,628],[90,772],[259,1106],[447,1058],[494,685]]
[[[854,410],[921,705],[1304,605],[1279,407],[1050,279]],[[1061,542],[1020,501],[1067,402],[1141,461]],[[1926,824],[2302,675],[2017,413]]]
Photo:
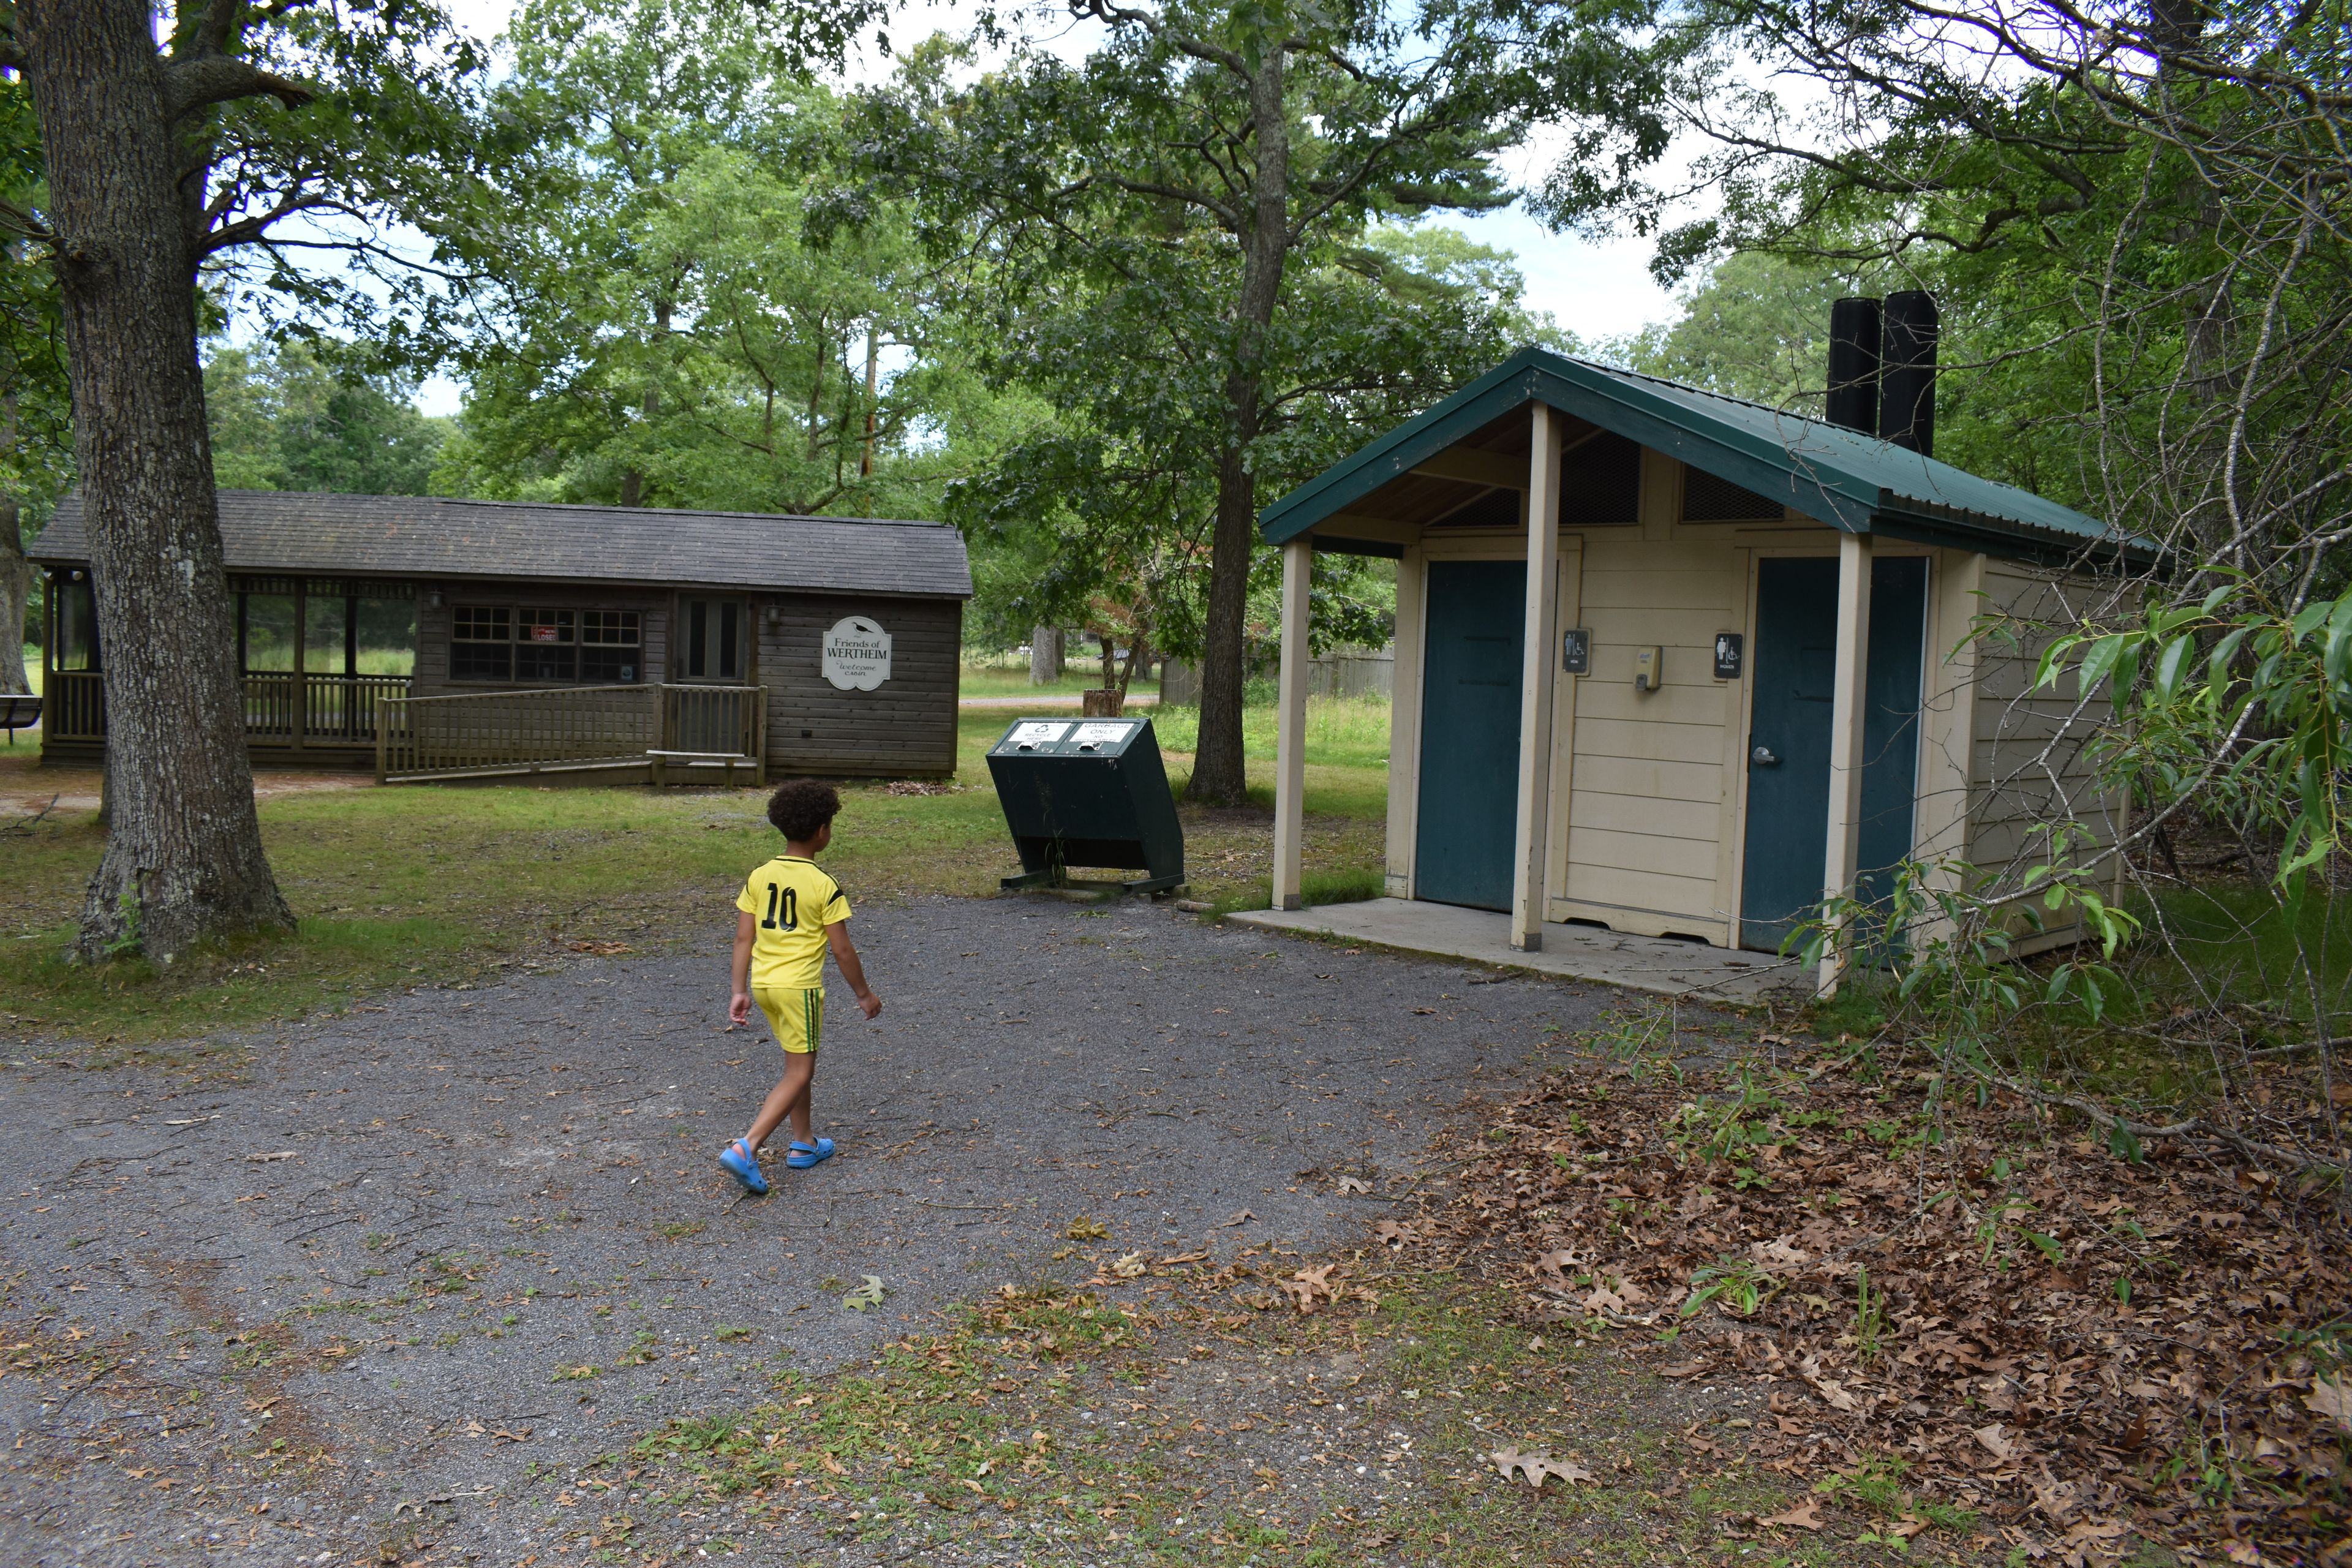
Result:
[[2082,755],[2103,693],[2034,693],[2034,649],[1971,623],[2145,545],[1896,440],[1529,348],[1261,534],[1284,562],[1265,924],[1303,919],[1279,912],[1315,550],[1397,559],[1388,898],[1317,919],[1494,910],[1494,950],[1606,926],[1773,952],[1905,858],[2004,865],[2065,813],[2117,830]]

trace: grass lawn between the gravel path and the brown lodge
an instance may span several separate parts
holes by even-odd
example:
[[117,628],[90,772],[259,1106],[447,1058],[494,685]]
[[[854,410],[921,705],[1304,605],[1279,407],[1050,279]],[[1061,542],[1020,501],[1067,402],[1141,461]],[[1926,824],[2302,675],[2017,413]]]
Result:
[[[957,790],[842,790],[828,865],[856,898],[990,896],[1018,870],[983,752],[1009,715],[960,722]],[[1251,806],[1185,806],[1192,896],[1263,903],[1272,858],[1270,715],[1251,717]],[[1378,745],[1362,715],[1327,724],[1308,748],[1308,865],[1319,886],[1378,884],[1388,804],[1385,717]],[[1169,743],[1190,745],[1188,715]],[[38,755],[0,750],[0,795],[96,792],[89,776],[45,773]],[[1169,752],[1176,788],[1188,752]],[[207,1030],[346,1009],[402,985],[470,983],[501,966],[569,952],[708,945],[713,961],[743,872],[776,851],[757,790],[397,785],[280,795],[261,832],[301,929],[228,943],[169,969],[106,969],[59,952],[103,849],[94,813],[64,809],[9,827],[0,809],[0,1034],[71,1034],[94,1046],[151,1046]],[[1336,896],[1336,893],[1334,893]],[[1362,896],[1362,891],[1357,891]]]

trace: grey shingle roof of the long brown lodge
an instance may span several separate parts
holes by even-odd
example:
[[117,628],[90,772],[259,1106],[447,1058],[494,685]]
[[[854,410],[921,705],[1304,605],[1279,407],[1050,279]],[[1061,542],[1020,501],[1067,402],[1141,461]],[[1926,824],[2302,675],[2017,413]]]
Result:
[[[435,496],[223,489],[230,571],[285,576],[539,578],[971,597],[962,536],[938,522],[673,512]],[[31,550],[82,564],[82,498]]]

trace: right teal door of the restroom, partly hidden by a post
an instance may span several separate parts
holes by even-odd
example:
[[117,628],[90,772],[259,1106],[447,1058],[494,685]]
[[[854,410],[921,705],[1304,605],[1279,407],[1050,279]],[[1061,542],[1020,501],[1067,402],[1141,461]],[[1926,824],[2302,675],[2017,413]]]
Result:
[[[1912,846],[1926,559],[1870,564],[1863,710],[1863,891]],[[1830,705],[1837,677],[1837,562],[1757,562],[1755,698],[1748,722],[1748,851],[1740,945],[1778,952],[1820,905],[1830,856]],[[1872,877],[1870,872],[1877,872]]]

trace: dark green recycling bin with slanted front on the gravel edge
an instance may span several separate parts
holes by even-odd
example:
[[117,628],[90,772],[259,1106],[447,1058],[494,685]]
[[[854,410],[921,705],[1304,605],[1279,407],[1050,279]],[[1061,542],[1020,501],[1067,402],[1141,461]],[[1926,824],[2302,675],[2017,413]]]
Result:
[[[1014,719],[988,748],[988,776],[1021,851],[1004,886],[1183,886],[1183,825],[1150,719]],[[1073,882],[1073,865],[1145,875]]]

